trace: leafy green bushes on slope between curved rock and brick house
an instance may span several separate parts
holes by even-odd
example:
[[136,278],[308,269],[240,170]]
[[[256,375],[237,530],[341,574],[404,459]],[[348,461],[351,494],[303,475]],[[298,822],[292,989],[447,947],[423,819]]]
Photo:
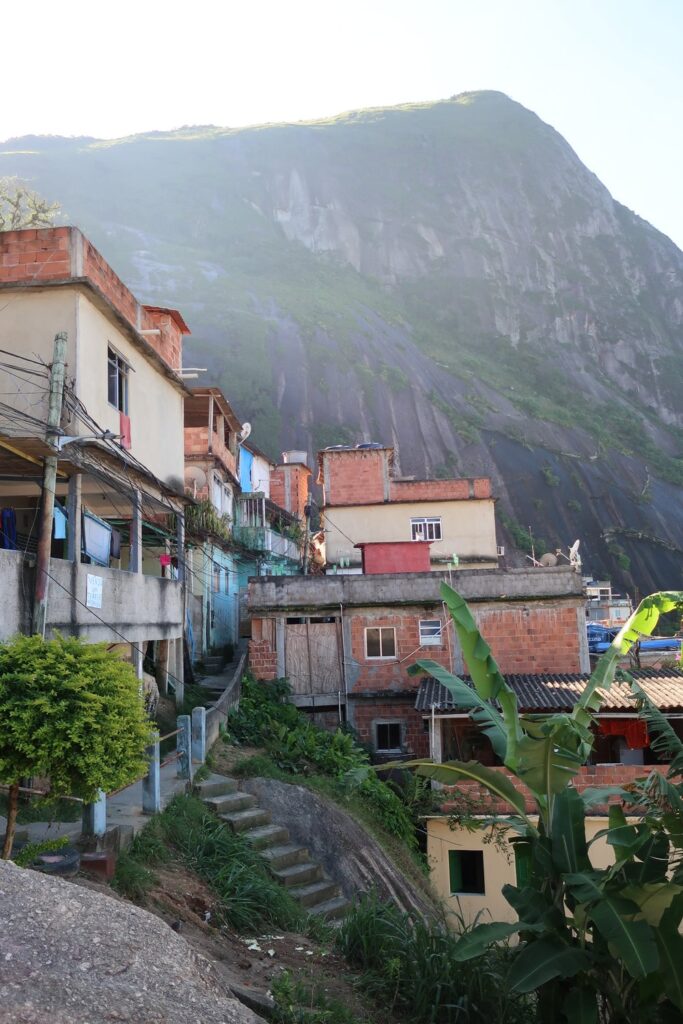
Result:
[[[289,693],[286,680],[256,682],[245,676],[240,709],[228,719],[230,736],[250,746],[264,748],[271,764],[283,772],[333,779],[340,795],[353,793],[372,809],[386,831],[415,850],[411,813],[395,790],[378,778],[367,751],[348,732],[328,732],[313,725],[288,702]],[[250,766],[249,773],[256,774],[253,759]],[[272,769],[265,774],[271,775]]]

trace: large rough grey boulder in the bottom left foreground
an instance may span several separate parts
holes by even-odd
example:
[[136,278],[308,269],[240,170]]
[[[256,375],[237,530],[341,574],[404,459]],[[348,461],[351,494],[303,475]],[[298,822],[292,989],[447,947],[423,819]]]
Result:
[[259,1024],[159,918],[0,861],[2,1024]]

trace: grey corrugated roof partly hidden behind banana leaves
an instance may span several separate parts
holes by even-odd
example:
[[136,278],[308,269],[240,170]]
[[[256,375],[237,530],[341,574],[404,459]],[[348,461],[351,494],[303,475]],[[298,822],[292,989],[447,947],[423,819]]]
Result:
[[[664,669],[636,669],[630,673],[650,700],[666,712],[683,712],[683,673]],[[571,711],[583,693],[590,676],[572,675],[510,675],[506,682],[517,694],[522,713]],[[471,685],[468,677],[465,682]],[[418,690],[415,707],[417,711],[457,711],[453,696],[444,686],[431,677],[423,679]],[[614,682],[608,692],[603,693],[602,712],[633,712],[634,697],[626,682]]]

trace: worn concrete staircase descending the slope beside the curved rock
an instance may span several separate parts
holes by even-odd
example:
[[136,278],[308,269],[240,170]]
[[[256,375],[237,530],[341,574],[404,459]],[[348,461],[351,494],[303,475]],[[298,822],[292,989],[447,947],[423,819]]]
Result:
[[305,846],[291,841],[287,828],[272,824],[270,812],[260,808],[255,797],[240,792],[236,779],[210,775],[195,788],[207,807],[258,850],[272,877],[307,913],[330,923],[344,916],[350,904],[336,882],[310,859]]

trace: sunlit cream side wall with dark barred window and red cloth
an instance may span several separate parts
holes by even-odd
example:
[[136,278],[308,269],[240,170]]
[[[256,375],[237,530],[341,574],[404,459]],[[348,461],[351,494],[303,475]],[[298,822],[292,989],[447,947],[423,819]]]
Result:
[[[182,394],[86,295],[79,295],[77,391],[105,430],[119,433],[119,411],[108,400],[106,352],[111,345],[134,371],[128,377],[130,453],[165,482],[182,483]],[[87,432],[85,428],[81,433]]]

